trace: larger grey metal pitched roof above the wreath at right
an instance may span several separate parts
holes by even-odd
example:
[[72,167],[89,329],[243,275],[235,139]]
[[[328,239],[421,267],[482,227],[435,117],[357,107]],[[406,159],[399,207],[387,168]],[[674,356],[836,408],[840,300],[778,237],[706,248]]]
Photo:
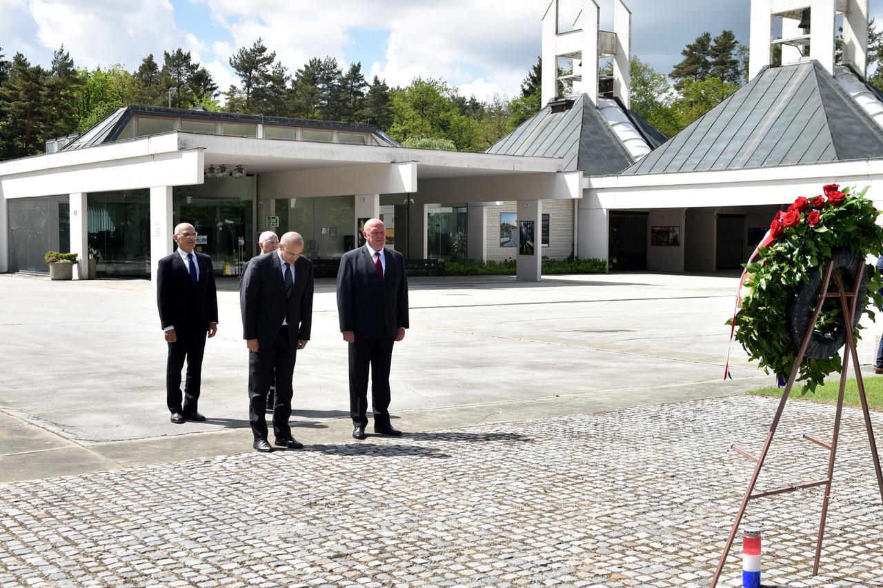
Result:
[[622,175],[883,157],[883,130],[816,61],[760,72]]

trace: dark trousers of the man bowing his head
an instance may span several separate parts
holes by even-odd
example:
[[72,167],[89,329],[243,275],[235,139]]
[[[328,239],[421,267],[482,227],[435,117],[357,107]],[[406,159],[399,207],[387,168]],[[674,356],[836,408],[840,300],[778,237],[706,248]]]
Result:
[[273,432],[276,439],[291,437],[291,396],[294,391],[291,380],[294,377],[294,363],[298,350],[291,349],[288,326],[279,329],[273,343],[260,351],[248,352],[248,420],[255,439],[267,439],[267,390],[273,383],[275,374],[275,410],[273,411]]

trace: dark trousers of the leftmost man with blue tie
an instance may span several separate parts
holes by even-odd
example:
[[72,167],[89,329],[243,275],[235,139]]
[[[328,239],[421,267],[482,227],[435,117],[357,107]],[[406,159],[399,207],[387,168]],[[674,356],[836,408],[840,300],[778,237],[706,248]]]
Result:
[[206,351],[206,332],[199,326],[177,328],[177,341],[169,343],[166,361],[166,404],[170,412],[181,411],[181,369],[187,361],[187,377],[184,384],[184,413],[199,411],[200,385],[202,383],[202,356]]

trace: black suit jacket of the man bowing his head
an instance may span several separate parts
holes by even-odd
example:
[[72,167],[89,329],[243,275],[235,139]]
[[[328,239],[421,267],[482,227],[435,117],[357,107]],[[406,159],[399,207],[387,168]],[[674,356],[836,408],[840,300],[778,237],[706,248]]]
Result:
[[313,261],[301,255],[294,262],[294,290],[286,298],[279,255],[253,257],[239,283],[239,308],[243,339],[257,339],[266,349],[285,319],[291,348],[298,349],[298,339],[308,340],[313,326]]

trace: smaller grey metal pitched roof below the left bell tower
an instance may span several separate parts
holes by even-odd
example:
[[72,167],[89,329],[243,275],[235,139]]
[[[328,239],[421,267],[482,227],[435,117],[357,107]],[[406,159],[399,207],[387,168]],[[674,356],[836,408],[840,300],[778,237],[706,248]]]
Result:
[[548,106],[540,110],[485,153],[561,157],[564,171],[581,170],[592,176],[618,173],[634,161],[585,94],[563,112],[552,112]]

